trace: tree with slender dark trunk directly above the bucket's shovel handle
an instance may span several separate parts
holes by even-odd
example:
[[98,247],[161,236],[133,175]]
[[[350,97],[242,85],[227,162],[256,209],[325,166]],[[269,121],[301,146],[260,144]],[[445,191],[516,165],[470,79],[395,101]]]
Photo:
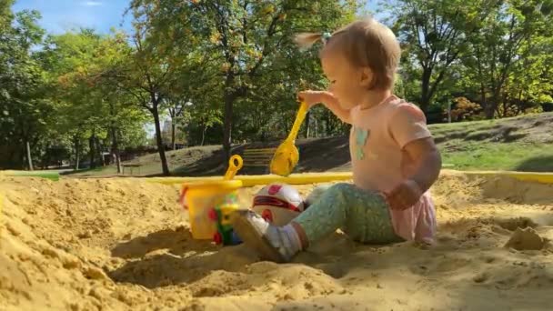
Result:
[[223,146],[226,158],[230,156],[232,143],[234,104],[256,88],[256,79],[273,65],[277,51],[290,47],[290,39],[298,31],[321,29],[337,21],[338,15],[351,15],[356,5],[352,2],[288,0],[211,1],[193,5],[197,12],[208,18],[206,26],[211,34],[210,42],[223,62]]

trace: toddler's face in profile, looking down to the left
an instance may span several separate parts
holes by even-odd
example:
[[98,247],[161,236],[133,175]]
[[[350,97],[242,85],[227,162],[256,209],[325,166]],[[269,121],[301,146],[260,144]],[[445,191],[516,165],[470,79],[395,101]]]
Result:
[[328,91],[337,96],[342,108],[349,110],[361,104],[367,93],[367,79],[372,79],[372,76],[367,77],[367,72],[353,67],[341,53],[325,53],[321,64],[330,82]]

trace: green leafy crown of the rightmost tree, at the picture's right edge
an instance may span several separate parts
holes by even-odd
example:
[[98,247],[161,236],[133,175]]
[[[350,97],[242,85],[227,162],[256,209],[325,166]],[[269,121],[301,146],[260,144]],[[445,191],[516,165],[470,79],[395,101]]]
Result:
[[523,113],[551,95],[550,83],[543,79],[551,77],[544,65],[551,61],[553,27],[550,15],[539,10],[542,3],[506,1],[469,38],[472,53],[464,62],[478,69],[468,76],[488,117],[512,110],[511,105]]

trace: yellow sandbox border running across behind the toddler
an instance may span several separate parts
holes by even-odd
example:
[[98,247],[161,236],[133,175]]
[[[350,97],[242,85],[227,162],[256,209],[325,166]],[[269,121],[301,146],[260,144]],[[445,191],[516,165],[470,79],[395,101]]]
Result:
[[[527,172],[510,172],[510,171],[456,171],[443,170],[443,174],[447,173],[464,174],[472,176],[509,176],[521,181],[538,182],[542,184],[553,184],[553,173],[527,173]],[[189,182],[220,180],[221,176],[209,177],[153,177],[147,178],[146,181],[165,185],[176,185]],[[270,183],[285,183],[288,185],[306,185],[319,184],[333,181],[351,180],[353,175],[351,172],[327,172],[327,173],[305,173],[292,174],[287,177],[276,175],[256,175],[256,176],[235,176],[235,179],[241,180],[244,186],[267,185]]]

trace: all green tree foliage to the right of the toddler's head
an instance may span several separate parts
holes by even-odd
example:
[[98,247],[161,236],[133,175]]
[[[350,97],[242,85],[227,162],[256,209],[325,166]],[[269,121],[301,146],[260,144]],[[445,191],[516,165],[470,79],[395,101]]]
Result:
[[[427,111],[466,96],[488,118],[551,96],[551,1],[402,0],[387,9],[404,46],[407,98]],[[443,105],[443,104],[442,104]],[[445,106],[445,105],[443,105]]]

